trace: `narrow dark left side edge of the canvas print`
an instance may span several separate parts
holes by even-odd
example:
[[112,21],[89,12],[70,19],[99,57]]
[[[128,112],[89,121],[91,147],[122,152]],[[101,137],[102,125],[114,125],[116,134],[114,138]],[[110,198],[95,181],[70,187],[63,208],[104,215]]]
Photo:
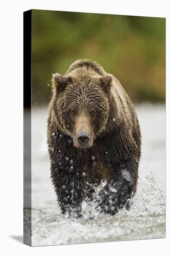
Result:
[[24,12],[24,243],[31,246],[31,19]]

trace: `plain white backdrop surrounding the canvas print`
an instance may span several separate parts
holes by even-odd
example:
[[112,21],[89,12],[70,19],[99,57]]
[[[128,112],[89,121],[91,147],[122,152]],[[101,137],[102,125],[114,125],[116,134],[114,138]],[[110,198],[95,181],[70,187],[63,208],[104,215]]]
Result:
[[[48,9],[166,17],[167,27],[167,179],[170,182],[170,12],[168,0],[6,0],[0,14],[0,251],[2,255],[168,255],[170,187],[167,185],[166,239],[28,247],[14,239],[23,232],[23,12]],[[13,210],[14,209],[14,210]],[[19,239],[20,240],[20,239]],[[169,240],[169,241],[168,241]],[[3,252],[2,252],[3,251]]]

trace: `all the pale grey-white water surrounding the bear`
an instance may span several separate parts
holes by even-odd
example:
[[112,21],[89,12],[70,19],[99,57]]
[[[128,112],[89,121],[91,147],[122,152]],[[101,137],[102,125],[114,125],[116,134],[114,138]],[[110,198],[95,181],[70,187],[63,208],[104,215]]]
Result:
[[[165,106],[136,106],[142,131],[142,158],[131,210],[99,214],[83,203],[82,219],[60,212],[50,180],[46,147],[47,108],[32,115],[32,245],[92,243],[165,237]],[[29,221],[29,220],[27,220]]]

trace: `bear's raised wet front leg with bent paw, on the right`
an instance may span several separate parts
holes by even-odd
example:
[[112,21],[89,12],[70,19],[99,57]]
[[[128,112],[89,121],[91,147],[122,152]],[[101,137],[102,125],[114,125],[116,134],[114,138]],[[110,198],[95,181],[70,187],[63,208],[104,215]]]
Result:
[[[125,167],[125,166],[124,166]],[[137,169],[123,168],[117,171],[115,179],[108,182],[98,194],[96,209],[100,212],[115,215],[122,209],[132,192],[135,192],[137,184]]]

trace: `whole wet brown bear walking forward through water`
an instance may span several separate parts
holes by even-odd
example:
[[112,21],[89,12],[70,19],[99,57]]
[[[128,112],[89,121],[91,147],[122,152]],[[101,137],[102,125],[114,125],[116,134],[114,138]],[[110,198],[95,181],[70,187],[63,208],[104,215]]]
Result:
[[63,214],[81,216],[82,201],[114,215],[137,188],[141,133],[119,81],[96,62],[78,60],[54,74],[47,121],[51,178]]

